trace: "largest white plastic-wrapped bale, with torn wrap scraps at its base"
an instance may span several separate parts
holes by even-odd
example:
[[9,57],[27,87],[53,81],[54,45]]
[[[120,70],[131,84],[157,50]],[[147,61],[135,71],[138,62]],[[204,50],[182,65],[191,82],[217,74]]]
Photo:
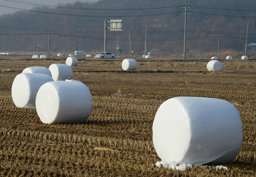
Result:
[[156,152],[167,162],[227,164],[236,159],[242,139],[238,110],[221,99],[168,99],[153,122]]

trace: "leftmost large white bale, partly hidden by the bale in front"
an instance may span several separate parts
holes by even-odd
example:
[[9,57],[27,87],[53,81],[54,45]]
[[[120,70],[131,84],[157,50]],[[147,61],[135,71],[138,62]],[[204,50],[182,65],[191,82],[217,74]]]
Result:
[[22,73],[12,83],[12,99],[17,107],[35,106],[36,94],[41,85],[53,79],[47,74]]

